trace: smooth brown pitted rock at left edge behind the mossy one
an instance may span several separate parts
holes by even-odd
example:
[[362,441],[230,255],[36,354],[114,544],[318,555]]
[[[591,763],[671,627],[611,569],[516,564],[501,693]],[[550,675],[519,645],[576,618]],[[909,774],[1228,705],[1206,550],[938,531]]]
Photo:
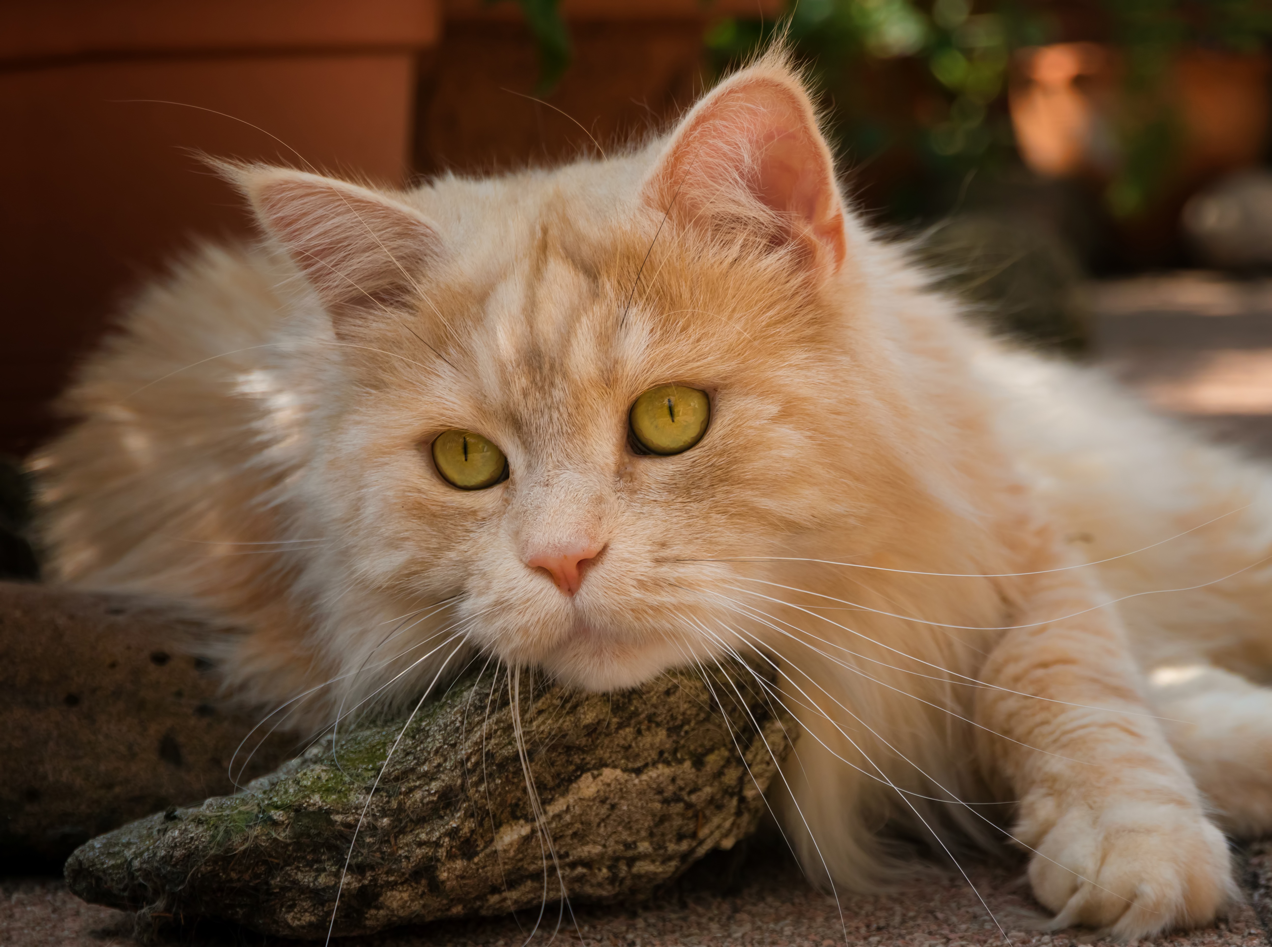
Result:
[[[99,833],[234,791],[258,718],[182,651],[201,630],[146,599],[0,582],[0,869],[56,869]],[[244,779],[295,746],[268,740]]]

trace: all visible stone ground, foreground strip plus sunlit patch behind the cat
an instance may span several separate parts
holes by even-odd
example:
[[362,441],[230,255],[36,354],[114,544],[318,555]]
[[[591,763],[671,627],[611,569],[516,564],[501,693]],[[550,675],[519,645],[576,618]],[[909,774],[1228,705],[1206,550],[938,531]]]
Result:
[[[1202,273],[1142,277],[1093,287],[1098,356],[1165,411],[1207,435],[1272,456],[1272,281],[1234,282]],[[1241,852],[1245,903],[1213,928],[1161,938],[1170,947],[1272,947],[1272,841]],[[722,894],[700,872],[640,910],[581,908],[558,924],[553,906],[536,916],[458,922],[342,947],[971,947],[1002,943],[1103,943],[1090,932],[1039,929],[1040,914],[1020,881],[1021,866],[971,866],[971,883],[934,875],[893,895],[846,897],[814,891],[780,853],[753,855]],[[977,894],[979,892],[979,895]],[[982,905],[979,896],[985,897]],[[1001,933],[997,924],[1001,924]],[[167,941],[165,941],[167,942]],[[284,944],[242,930],[183,928],[172,943],[191,947]],[[111,947],[135,944],[131,918],[85,905],[56,878],[0,880],[0,946]]]

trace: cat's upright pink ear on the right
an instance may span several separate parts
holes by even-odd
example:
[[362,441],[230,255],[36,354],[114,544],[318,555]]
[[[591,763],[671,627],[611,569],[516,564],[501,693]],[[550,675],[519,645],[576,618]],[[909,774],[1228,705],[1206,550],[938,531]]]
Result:
[[689,111],[642,197],[709,235],[796,244],[818,272],[837,271],[847,255],[834,160],[780,53],[730,76]]

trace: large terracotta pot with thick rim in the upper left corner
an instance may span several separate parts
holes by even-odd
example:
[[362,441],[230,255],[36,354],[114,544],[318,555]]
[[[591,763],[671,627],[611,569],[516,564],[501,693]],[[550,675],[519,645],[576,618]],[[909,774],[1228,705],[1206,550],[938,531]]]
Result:
[[192,234],[247,231],[197,151],[401,182],[439,32],[432,0],[0,5],[0,451],[47,435],[122,294]]

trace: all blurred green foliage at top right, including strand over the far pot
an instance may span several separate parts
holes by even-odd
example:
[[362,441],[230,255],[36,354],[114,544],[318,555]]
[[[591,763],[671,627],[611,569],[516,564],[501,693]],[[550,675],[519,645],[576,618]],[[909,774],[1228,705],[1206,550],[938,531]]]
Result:
[[[1122,155],[1105,201],[1117,216],[1144,210],[1168,181],[1179,122],[1164,93],[1166,70],[1184,43],[1238,52],[1272,38],[1272,0],[1102,0],[1126,56],[1127,107],[1117,127]],[[920,169],[884,194],[893,217],[948,205],[973,172],[993,174],[1015,160],[1006,112],[1011,56],[1056,38],[1044,8],[1028,0],[799,0],[777,23],[725,20],[706,37],[717,72],[784,34],[832,103],[831,133],[857,165],[899,153]],[[909,100],[893,94],[892,119],[880,76],[906,79]],[[874,88],[862,89],[875,80]],[[917,103],[917,108],[915,108]],[[911,114],[899,116],[909,108]],[[940,210],[944,210],[941,207]]]

